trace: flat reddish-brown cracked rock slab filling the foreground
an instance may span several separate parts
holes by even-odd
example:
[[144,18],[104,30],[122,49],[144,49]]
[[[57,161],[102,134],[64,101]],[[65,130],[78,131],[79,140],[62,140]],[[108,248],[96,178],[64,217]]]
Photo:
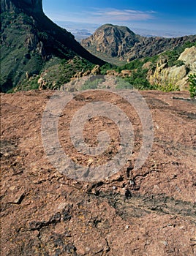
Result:
[[[132,167],[142,138],[137,114],[116,94],[99,91],[99,100],[118,105],[131,119],[135,146],[118,173],[91,183],[59,173],[45,155],[42,113],[53,91],[1,94],[2,255],[196,254],[195,102],[186,100],[186,92],[141,94],[154,121],[154,144],[145,165]],[[61,145],[81,165],[107,162],[118,145],[115,124],[94,118],[83,135],[96,145],[100,127],[108,129],[110,151],[88,159],[72,148],[72,115],[96,97],[91,91],[75,94],[59,120]]]

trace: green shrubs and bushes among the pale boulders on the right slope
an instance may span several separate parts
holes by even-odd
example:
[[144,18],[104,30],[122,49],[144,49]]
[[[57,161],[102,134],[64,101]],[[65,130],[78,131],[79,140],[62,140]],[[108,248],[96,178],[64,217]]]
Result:
[[[166,68],[184,67],[184,61],[178,60],[178,58],[186,48],[191,48],[192,46],[196,47],[196,42],[186,42],[184,45],[178,46],[173,50],[167,50],[164,53],[152,57],[135,59],[121,67],[116,67],[114,65],[109,66],[107,64],[102,66],[102,74],[107,74],[109,69],[115,70],[119,75],[121,75],[121,72],[124,70],[128,70],[129,75],[125,75],[123,79],[130,83],[130,86],[128,86],[130,88],[131,86],[134,86],[136,89],[178,91],[180,89],[180,86],[178,85],[178,77],[175,75],[169,76],[167,74],[167,69],[163,69],[162,80],[159,80],[159,78],[157,78],[157,73],[154,71],[162,64],[162,60],[164,60],[164,67]],[[189,67],[186,67],[186,69],[189,69]],[[187,72],[189,72],[189,70],[187,70]],[[150,77],[153,79],[149,79]],[[121,88],[126,89],[127,84],[121,83]]]

